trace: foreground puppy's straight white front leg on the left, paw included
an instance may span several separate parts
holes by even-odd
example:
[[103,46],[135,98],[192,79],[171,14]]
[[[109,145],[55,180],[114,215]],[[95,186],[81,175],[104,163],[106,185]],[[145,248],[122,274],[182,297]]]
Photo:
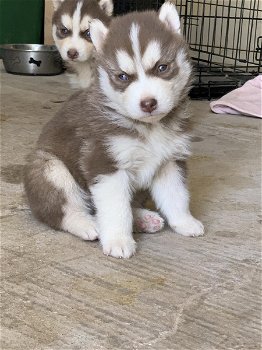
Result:
[[125,171],[100,176],[90,187],[96,207],[99,239],[103,252],[115,258],[129,258],[135,253],[132,237],[132,209],[129,178]]

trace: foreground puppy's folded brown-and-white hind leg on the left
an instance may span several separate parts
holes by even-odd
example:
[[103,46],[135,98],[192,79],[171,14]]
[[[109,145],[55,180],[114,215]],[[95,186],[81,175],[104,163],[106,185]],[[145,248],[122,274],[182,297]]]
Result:
[[26,167],[25,189],[35,216],[85,240],[97,238],[88,198],[62,161],[37,151]]

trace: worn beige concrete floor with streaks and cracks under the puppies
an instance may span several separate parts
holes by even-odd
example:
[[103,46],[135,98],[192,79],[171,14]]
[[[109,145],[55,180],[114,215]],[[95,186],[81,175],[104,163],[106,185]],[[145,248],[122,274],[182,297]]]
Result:
[[2,347],[20,350],[261,348],[260,121],[193,102],[192,211],[206,235],[136,235],[130,260],[36,222],[22,171],[65,76],[2,69]]

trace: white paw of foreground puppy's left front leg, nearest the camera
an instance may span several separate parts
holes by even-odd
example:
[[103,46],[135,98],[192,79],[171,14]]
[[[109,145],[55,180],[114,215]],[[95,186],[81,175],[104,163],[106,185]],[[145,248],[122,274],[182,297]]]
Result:
[[111,238],[102,242],[103,253],[114,258],[130,258],[135,254],[136,242],[132,237]]

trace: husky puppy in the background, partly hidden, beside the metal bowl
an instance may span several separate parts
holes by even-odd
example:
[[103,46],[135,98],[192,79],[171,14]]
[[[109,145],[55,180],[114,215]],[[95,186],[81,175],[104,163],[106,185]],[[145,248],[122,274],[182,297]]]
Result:
[[53,0],[53,38],[65,61],[70,83],[87,88],[94,79],[93,44],[90,22],[100,19],[105,25],[113,12],[112,0]]

